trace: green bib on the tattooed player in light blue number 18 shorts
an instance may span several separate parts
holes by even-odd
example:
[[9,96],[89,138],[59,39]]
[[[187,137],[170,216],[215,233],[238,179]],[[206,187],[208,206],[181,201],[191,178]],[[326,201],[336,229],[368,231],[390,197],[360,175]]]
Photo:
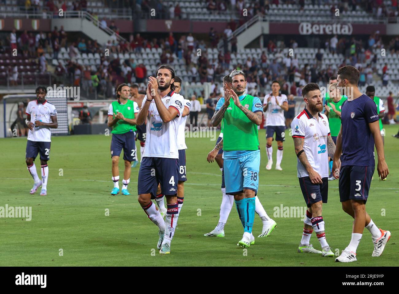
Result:
[[[248,95],[240,101],[241,105],[252,110],[253,96]],[[223,117],[223,150],[258,150],[258,126],[234,104],[230,98],[229,107]]]

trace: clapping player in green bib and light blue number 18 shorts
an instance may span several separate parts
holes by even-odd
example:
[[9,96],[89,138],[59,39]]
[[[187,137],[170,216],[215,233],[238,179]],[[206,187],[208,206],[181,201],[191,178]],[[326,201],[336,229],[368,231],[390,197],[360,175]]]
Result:
[[248,248],[255,243],[252,226],[261,160],[257,126],[262,122],[263,111],[259,98],[245,94],[247,81],[244,72],[233,70],[230,78],[232,89],[227,89],[225,98],[217,102],[212,125],[219,125],[223,119],[225,142],[221,140],[218,146],[223,146],[226,194],[234,196],[244,228],[243,238],[237,245]]

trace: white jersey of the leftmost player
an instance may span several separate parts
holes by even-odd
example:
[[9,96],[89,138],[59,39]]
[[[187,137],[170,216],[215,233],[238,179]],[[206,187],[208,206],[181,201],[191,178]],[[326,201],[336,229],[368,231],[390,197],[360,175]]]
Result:
[[[54,104],[45,100],[43,104],[38,103],[38,100],[33,100],[28,103],[26,107],[26,114],[30,114],[30,122],[35,124],[36,120],[41,122],[51,123],[50,116],[57,115],[57,110]],[[34,127],[33,131],[29,130],[28,140],[34,142],[51,142],[51,131],[49,127],[38,126]]]

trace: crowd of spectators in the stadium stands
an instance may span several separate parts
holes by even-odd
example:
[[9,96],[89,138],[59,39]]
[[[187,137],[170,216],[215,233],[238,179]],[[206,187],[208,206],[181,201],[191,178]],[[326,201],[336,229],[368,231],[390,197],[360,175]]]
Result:
[[[113,26],[113,24],[111,24]],[[120,83],[145,82],[146,78],[155,73],[146,68],[144,64],[138,64],[138,60],[128,58],[126,60],[113,59],[113,53],[144,52],[145,48],[161,48],[160,62],[156,64],[172,64],[176,60],[180,62],[180,70],[187,70],[192,76],[189,82],[215,82],[221,80],[231,68],[241,69],[247,74],[248,89],[251,94],[263,95],[269,90],[272,80],[279,80],[283,91],[289,94],[300,95],[302,87],[308,82],[326,84],[328,78],[336,72],[336,69],[344,65],[352,65],[360,70],[360,85],[370,84],[372,81],[382,80],[383,85],[389,82],[389,64],[383,68],[382,76],[377,74],[375,64],[377,55],[373,54],[376,48],[384,48],[379,32],[371,34],[367,41],[353,37],[332,36],[320,40],[319,47],[324,48],[324,54],[342,54],[344,58],[337,60],[334,68],[323,67],[324,54],[319,50],[315,56],[316,64],[303,64],[301,68],[298,58],[294,53],[283,54],[284,48],[295,49],[298,43],[290,40],[290,44],[282,41],[268,40],[260,58],[248,56],[243,64],[233,64],[232,54],[237,54],[237,40],[232,38],[229,42],[223,42],[223,48],[217,50],[217,58],[208,58],[207,48],[217,48],[219,39],[227,40],[232,35],[237,24],[231,21],[223,32],[216,32],[213,28],[209,31],[209,41],[196,40],[192,34],[175,36],[172,32],[166,38],[143,38],[140,34],[130,35],[126,42],[117,42],[115,36],[107,44],[101,46],[97,41],[79,38],[75,42],[67,44],[67,34],[61,26],[55,27],[52,32],[44,34],[39,32],[24,31],[17,38],[15,30],[10,34],[10,48],[18,48],[28,58],[38,58],[41,72],[47,70],[44,54],[58,59],[62,47],[69,48],[69,60],[63,65],[59,63],[54,72],[57,76],[67,77],[70,84],[81,85],[89,92],[97,91],[106,97],[113,95],[112,88]],[[114,29],[117,29],[116,27]],[[104,56],[105,49],[109,49],[109,56]],[[385,46],[391,53],[399,53],[399,37],[391,40]],[[93,70],[92,66],[83,66],[77,63],[78,53],[98,53],[101,62]],[[272,53],[274,58],[269,60],[267,54]],[[213,56],[214,57],[214,56]],[[186,77],[182,77],[185,79]],[[214,87],[219,91],[219,87]],[[216,94],[216,93],[215,93]]]

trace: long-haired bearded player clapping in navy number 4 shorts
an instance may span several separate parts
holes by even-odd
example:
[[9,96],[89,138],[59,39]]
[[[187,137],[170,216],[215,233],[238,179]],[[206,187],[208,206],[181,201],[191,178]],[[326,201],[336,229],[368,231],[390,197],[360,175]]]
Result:
[[[183,97],[174,90],[174,70],[162,65],[156,71],[156,78],[150,76],[147,94],[138,113],[137,123],[147,120],[146,148],[138,172],[138,202],[148,218],[159,228],[157,248],[160,254],[170,253],[179,211],[177,202],[177,181],[179,174],[178,126],[184,110]],[[166,224],[152,203],[158,183],[166,196],[168,206]],[[166,234],[165,234],[165,229]]]

